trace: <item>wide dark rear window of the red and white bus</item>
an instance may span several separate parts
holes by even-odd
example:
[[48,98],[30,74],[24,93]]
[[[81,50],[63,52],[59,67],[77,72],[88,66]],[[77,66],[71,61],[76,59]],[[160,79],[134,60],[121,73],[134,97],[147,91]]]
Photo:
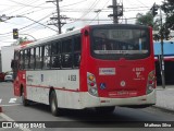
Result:
[[91,55],[98,59],[141,59],[150,55],[148,28],[94,28]]

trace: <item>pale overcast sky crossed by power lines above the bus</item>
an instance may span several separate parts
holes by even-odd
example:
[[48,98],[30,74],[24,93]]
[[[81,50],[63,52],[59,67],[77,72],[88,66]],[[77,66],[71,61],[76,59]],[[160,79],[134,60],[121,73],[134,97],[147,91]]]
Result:
[[[50,17],[57,15],[55,2],[50,0],[0,0],[0,48],[15,41],[12,36],[13,28],[18,28],[20,37],[27,37],[29,40],[41,39],[58,34],[58,27],[49,25],[53,21]],[[51,0],[54,1],[54,0]],[[156,2],[161,4],[164,0],[117,0],[124,8],[123,16],[119,23],[134,24],[137,13],[145,14]],[[62,32],[67,28],[80,28],[89,24],[111,24],[113,22],[109,14],[112,14],[112,0],[60,0],[60,14],[64,17]],[[96,12],[100,10],[100,12]],[[12,19],[7,20],[8,16]],[[5,21],[7,20],[7,21]],[[38,24],[39,23],[39,24]]]

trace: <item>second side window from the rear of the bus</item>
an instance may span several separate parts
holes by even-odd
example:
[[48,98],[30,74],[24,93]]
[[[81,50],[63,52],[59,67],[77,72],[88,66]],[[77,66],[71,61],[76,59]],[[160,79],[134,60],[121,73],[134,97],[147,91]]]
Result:
[[62,68],[72,68],[72,39],[62,41]]

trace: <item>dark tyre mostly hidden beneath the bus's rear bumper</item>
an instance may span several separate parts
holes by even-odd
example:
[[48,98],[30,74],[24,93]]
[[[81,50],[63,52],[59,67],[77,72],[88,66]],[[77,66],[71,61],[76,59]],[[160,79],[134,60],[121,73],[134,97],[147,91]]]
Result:
[[96,107],[96,111],[99,114],[112,114],[114,111],[115,107]]

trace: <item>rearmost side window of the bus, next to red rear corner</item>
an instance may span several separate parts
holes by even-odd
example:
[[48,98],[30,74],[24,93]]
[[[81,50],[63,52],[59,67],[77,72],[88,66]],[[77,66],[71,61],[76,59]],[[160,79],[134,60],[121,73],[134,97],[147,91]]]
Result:
[[79,68],[82,52],[82,39],[80,35],[74,37],[74,67]]

